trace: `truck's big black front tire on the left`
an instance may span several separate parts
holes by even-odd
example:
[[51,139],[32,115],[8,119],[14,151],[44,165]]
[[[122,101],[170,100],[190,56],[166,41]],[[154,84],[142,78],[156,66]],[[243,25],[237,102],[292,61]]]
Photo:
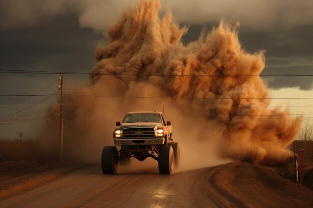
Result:
[[105,146],[101,155],[101,168],[103,174],[116,174],[118,171],[118,155],[115,146]]

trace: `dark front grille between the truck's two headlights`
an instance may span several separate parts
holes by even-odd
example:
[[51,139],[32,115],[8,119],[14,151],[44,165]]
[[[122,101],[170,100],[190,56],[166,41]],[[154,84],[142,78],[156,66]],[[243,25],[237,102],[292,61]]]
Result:
[[124,128],[123,138],[154,138],[154,128]]

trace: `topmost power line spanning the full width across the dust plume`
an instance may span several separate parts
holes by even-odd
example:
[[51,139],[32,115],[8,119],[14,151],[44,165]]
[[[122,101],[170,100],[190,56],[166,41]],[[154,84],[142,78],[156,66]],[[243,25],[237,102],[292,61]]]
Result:
[[195,75],[195,74],[117,74],[117,73],[93,73],[93,72],[65,72],[65,71],[40,71],[40,70],[9,70],[0,69],[0,73],[21,74],[76,74],[76,75],[103,75],[103,76],[163,76],[163,77],[302,77],[313,76],[313,74],[268,74],[268,75]]

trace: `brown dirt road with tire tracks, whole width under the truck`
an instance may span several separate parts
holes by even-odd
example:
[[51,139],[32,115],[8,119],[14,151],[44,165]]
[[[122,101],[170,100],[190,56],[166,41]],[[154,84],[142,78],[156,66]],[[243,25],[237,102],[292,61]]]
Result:
[[157,169],[103,175],[87,166],[0,201],[0,208],[41,207],[312,208],[313,191],[241,162],[172,175]]

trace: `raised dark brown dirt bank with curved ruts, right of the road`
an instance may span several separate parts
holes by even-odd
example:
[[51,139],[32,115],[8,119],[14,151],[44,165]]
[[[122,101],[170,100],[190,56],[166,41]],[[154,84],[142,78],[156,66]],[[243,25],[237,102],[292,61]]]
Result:
[[[204,177],[204,178],[203,178]],[[201,183],[206,182],[201,186]],[[283,179],[264,166],[233,162],[209,169],[196,181],[199,199],[210,198],[217,207],[312,208],[313,191]],[[201,196],[202,195],[202,196]]]

